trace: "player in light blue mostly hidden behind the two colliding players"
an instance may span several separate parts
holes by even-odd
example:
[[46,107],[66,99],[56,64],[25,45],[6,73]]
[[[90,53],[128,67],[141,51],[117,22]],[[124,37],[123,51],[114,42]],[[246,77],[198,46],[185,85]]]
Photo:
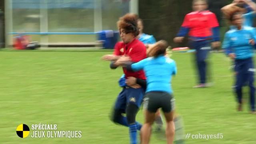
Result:
[[[139,29],[140,34],[137,36],[138,40],[143,42],[143,44],[145,44],[146,47],[148,47],[150,44],[156,43],[156,39],[154,38],[154,36],[143,33],[143,28],[144,28],[143,21],[142,21],[142,19],[139,18],[138,19],[138,29]],[[134,83],[142,84],[144,82],[143,82],[143,80],[140,80],[140,79],[137,79],[134,77],[128,77],[126,79],[124,74],[121,76],[121,78],[119,80],[119,85],[121,87],[124,87],[126,85],[131,86],[130,84],[132,84],[132,86],[134,86]],[[160,110],[158,110],[156,112],[155,123],[156,123],[156,130],[157,131],[161,130],[163,127],[163,119],[162,119]]]

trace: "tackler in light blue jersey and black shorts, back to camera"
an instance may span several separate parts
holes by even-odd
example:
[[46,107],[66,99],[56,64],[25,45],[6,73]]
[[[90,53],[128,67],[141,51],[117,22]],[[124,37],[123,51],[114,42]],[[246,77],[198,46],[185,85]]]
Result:
[[121,57],[117,60],[117,63],[126,66],[127,70],[144,70],[147,77],[143,104],[145,121],[142,126],[142,144],[149,144],[151,127],[159,108],[162,108],[166,118],[167,143],[173,144],[174,141],[174,97],[171,79],[172,75],[177,73],[177,68],[174,60],[165,56],[167,48],[167,42],[160,40],[148,48],[149,58],[134,64],[129,62],[129,57]]

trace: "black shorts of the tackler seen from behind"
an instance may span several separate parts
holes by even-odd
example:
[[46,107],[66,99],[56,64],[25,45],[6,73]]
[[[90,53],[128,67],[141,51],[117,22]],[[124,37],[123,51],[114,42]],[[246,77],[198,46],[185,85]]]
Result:
[[149,112],[156,112],[158,108],[162,108],[165,113],[175,109],[174,98],[167,92],[147,92],[143,99],[143,108]]

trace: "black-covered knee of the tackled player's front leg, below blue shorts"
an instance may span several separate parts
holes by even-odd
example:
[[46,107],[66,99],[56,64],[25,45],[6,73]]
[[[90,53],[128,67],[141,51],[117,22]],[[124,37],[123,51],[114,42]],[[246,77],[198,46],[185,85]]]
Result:
[[129,103],[126,107],[126,118],[128,124],[134,124],[136,122],[136,114],[138,112],[138,106],[133,103]]

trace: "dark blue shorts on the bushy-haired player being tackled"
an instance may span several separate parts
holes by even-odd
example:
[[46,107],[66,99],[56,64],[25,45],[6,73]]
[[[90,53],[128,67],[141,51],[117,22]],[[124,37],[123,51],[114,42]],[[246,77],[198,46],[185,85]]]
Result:
[[125,113],[128,103],[135,104],[140,108],[144,94],[145,90],[143,88],[123,88],[116,99],[115,109]]

